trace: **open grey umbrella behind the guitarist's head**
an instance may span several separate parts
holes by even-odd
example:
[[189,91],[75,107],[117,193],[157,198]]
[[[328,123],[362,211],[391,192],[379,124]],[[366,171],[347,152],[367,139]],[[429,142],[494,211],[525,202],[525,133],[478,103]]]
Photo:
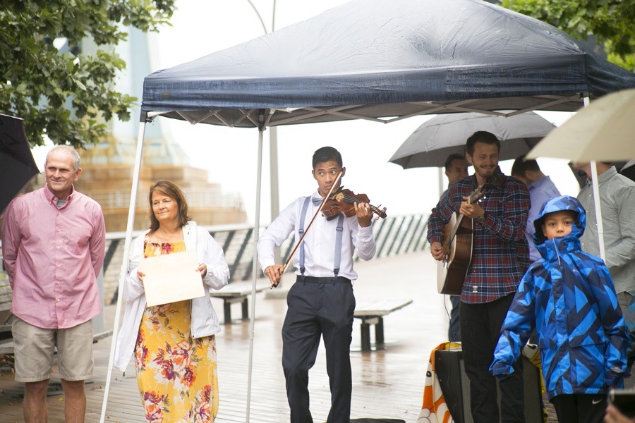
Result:
[[480,113],[439,115],[419,126],[389,161],[404,169],[441,167],[449,154],[464,154],[466,140],[477,130],[486,130],[501,140],[501,160],[516,159],[553,128],[555,125],[533,111],[509,117]]

